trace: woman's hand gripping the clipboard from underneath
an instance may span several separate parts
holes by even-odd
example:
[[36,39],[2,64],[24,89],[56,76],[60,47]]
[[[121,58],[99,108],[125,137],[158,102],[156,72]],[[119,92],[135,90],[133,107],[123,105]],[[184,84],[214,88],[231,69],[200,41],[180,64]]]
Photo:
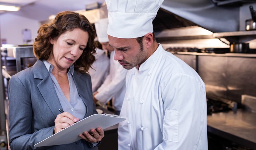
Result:
[[83,132],[83,134],[80,134],[79,137],[90,143],[101,141],[101,139],[104,137],[104,131],[100,127],[97,129],[91,129],[90,132],[91,133]]

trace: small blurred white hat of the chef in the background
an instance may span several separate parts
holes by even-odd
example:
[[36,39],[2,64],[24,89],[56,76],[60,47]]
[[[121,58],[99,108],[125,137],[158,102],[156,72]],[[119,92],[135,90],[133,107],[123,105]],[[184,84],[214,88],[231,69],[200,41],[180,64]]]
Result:
[[94,23],[98,41],[100,43],[109,42],[107,37],[107,25],[109,24],[108,18],[100,19]]

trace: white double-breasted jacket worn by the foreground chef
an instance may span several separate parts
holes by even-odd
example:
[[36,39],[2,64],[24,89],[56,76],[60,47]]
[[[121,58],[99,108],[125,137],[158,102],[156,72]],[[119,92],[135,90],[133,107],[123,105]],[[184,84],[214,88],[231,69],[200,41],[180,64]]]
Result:
[[118,150],[207,150],[205,85],[159,44],[126,78]]

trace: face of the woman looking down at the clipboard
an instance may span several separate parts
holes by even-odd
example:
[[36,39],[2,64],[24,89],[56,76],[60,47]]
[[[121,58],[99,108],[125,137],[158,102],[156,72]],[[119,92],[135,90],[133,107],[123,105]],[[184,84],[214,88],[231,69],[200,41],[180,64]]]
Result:
[[61,34],[58,39],[50,39],[53,50],[47,61],[57,70],[67,70],[82,55],[88,38],[88,32],[75,28]]

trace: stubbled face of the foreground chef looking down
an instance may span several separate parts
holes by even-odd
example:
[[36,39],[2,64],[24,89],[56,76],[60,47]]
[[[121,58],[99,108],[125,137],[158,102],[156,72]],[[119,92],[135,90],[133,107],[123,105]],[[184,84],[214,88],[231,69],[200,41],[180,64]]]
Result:
[[135,38],[122,39],[109,36],[109,45],[115,50],[114,59],[125,69],[140,66],[148,58],[147,49],[141,47]]

